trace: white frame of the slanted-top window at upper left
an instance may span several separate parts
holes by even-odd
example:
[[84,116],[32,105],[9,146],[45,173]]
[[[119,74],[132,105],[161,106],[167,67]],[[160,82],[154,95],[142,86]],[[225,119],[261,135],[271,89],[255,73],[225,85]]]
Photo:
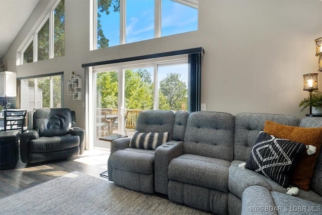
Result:
[[[40,24],[36,24],[36,29],[35,31],[32,33],[30,39],[27,40],[26,43],[24,43],[25,45],[23,46],[23,48],[20,51],[20,56],[19,56],[19,60],[17,60],[17,62],[19,62],[17,65],[22,65],[25,64],[24,63],[24,53],[26,51],[26,49],[28,48],[28,46],[30,45],[30,43],[33,41],[33,62],[37,62],[38,61],[38,33],[39,31],[42,29],[42,27],[44,26],[44,24],[47,22],[47,20],[49,19],[49,58],[54,58],[54,11],[56,9],[56,7],[59,5],[59,3],[62,0],[55,0],[54,5],[50,8],[49,12],[47,14],[45,14],[45,16],[41,19]],[[19,53],[19,51],[18,51]]]

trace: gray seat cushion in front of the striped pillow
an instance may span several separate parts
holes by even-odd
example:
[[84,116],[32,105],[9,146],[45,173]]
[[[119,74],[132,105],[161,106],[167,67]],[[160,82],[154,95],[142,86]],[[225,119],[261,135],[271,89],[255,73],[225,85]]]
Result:
[[[154,154],[145,151],[119,150],[113,153],[111,162],[113,169],[120,169],[129,172],[153,174]],[[114,171],[114,170],[113,170]]]

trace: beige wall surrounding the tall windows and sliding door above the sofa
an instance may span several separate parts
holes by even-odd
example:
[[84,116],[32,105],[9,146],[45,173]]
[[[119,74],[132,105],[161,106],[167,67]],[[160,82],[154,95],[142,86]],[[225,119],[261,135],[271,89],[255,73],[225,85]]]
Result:
[[72,71],[84,78],[83,63],[195,47],[205,49],[201,102],[207,110],[308,112],[300,113],[298,104],[308,96],[302,75],[318,73],[321,1],[200,0],[198,31],[90,51],[90,0],[65,0],[65,56],[16,66],[16,51],[49,2],[40,1],[4,63],[19,78],[64,71],[64,105],[76,111],[79,126],[85,127],[85,90],[75,101],[66,86]]

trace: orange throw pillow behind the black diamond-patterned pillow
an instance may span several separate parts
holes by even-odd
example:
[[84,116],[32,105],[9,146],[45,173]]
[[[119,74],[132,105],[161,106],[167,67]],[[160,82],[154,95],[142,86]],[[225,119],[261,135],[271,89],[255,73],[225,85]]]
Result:
[[297,161],[290,178],[292,185],[303,190],[308,190],[313,177],[316,160],[321,150],[322,127],[307,128],[289,126],[267,120],[264,125],[264,132],[279,138],[290,139],[316,147],[316,153],[313,155],[307,155],[305,150]]

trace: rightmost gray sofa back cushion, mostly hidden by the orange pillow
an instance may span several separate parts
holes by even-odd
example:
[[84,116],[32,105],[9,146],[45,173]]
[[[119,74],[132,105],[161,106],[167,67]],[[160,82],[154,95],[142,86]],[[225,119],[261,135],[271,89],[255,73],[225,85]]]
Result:
[[[322,127],[322,118],[320,117],[304,117],[300,122],[301,127]],[[322,140],[321,140],[322,141]],[[317,158],[313,178],[310,188],[319,195],[322,195],[322,156],[321,153]]]

